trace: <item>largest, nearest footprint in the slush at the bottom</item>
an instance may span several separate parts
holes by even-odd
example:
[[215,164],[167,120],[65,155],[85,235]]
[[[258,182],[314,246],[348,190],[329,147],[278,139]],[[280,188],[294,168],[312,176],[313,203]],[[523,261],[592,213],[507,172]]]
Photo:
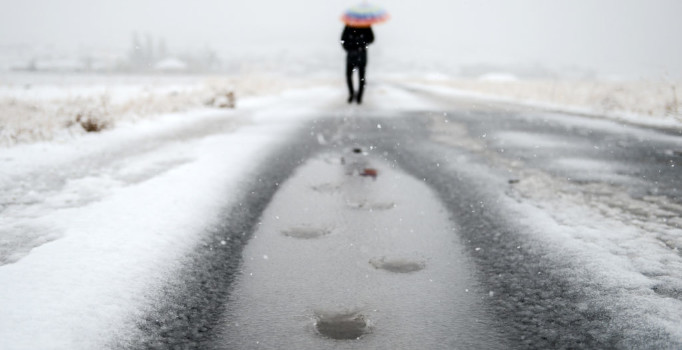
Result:
[[370,332],[369,321],[358,312],[318,312],[315,319],[315,330],[330,339],[354,340]]

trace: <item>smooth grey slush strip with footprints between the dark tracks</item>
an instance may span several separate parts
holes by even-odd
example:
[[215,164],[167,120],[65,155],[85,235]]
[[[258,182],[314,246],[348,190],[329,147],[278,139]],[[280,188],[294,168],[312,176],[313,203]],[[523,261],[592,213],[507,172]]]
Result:
[[243,258],[217,347],[504,348],[447,210],[382,159],[308,161]]

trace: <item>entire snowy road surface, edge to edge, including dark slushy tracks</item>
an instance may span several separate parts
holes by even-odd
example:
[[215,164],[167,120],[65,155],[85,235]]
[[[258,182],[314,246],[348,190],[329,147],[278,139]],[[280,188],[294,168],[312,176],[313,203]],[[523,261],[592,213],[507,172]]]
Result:
[[4,346],[682,346],[679,134],[339,101],[3,150]]

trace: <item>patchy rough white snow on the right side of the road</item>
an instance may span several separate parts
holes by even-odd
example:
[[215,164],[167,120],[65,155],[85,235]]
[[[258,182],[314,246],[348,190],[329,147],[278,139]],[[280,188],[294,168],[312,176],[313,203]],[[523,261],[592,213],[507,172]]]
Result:
[[[607,120],[547,112],[534,112],[532,117],[560,120],[566,126],[588,126],[638,140],[666,140],[682,148],[679,137]],[[502,203],[509,220],[531,228],[526,234],[527,241],[548,249],[551,259],[559,264],[577,262],[573,269],[557,271],[567,281],[587,282],[605,291],[603,296],[593,296],[593,301],[617,315],[613,328],[624,333],[664,329],[672,339],[682,341],[679,326],[682,206],[665,196],[639,199],[630,196],[624,186],[641,179],[619,174],[625,165],[618,161],[576,158],[557,152],[553,166],[591,180],[574,183],[504,159],[496,150],[486,149],[481,138],[467,135],[457,126],[453,129],[446,131],[439,141],[479,152],[499,168],[518,176],[518,184],[510,191],[494,193],[491,200]],[[487,137],[495,140],[496,149],[513,145],[526,148],[528,154],[537,148],[590,147],[533,133],[496,132]],[[494,175],[480,166],[462,168],[457,162],[447,166],[465,171],[483,183],[496,181]],[[670,171],[678,170],[672,164]]]

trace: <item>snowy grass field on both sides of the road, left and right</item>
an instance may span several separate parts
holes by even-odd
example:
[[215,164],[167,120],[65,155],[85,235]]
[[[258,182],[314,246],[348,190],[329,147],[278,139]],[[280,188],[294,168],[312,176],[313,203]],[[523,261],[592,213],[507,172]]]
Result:
[[[0,146],[64,141],[86,128],[108,129],[125,122],[201,108],[227,107],[238,99],[292,88],[329,86],[342,79],[292,74],[236,76],[0,74]],[[424,78],[426,77],[426,78]],[[679,83],[528,81],[510,75],[451,79],[435,74],[384,74],[379,81],[419,84],[460,97],[509,102],[617,119],[682,127]]]

